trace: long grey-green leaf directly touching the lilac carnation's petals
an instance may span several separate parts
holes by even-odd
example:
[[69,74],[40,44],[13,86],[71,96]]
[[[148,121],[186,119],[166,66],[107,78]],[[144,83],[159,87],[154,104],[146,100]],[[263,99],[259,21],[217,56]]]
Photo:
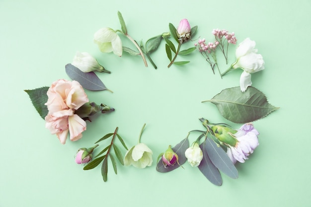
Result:
[[222,147],[217,146],[213,139],[209,137],[206,138],[205,147],[209,158],[220,171],[233,179],[238,178],[237,169]]

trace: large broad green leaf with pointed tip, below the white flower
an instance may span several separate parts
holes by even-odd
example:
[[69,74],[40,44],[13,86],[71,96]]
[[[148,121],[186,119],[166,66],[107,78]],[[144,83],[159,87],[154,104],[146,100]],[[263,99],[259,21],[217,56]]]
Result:
[[221,115],[234,123],[253,122],[279,109],[269,104],[266,96],[252,86],[245,92],[241,92],[240,87],[227,88],[207,101],[215,104]]

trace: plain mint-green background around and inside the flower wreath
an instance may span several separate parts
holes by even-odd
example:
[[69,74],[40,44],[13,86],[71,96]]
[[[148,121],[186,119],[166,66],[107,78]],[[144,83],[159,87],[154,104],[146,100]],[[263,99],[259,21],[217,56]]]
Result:
[[[201,101],[238,86],[242,70],[221,79],[198,52],[177,58],[190,64],[167,69],[163,42],[152,54],[158,69],[146,68],[141,57],[103,54],[93,34],[102,27],[121,29],[118,10],[137,41],[167,32],[169,22],[177,26],[182,18],[198,25],[194,42],[183,49],[198,38],[212,41],[214,28],[234,31],[237,43],[246,37],[256,41],[265,69],[252,75],[253,86],[280,109],[254,122],[260,144],[249,160],[236,165],[238,179],[223,175],[223,185],[217,187],[188,163],[185,169],[158,173],[156,158],[189,131],[203,130],[198,118],[241,126]],[[0,0],[0,207],[311,206],[310,10],[310,0]],[[236,46],[230,46],[229,65]],[[77,51],[90,53],[112,71],[98,76],[113,93],[86,93],[116,111],[95,116],[82,139],[62,145],[23,90],[70,79],[65,65]],[[224,71],[229,65],[222,54],[218,58]],[[133,146],[144,123],[142,142],[154,152],[151,167],[118,163],[115,175],[109,163],[104,183],[99,167],[83,171],[75,163],[78,148],[92,146],[116,127]],[[196,138],[191,135],[190,142]]]

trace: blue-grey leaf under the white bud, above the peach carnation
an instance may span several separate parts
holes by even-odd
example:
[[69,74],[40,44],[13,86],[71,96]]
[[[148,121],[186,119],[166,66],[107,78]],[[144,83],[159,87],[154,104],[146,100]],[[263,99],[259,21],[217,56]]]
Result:
[[71,64],[67,64],[65,68],[68,76],[73,80],[77,80],[83,88],[88,90],[108,90],[94,72],[82,72]]

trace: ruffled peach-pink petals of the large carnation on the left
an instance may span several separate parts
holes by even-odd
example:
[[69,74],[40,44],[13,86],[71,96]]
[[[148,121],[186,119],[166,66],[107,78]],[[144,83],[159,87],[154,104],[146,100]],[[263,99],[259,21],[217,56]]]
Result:
[[68,132],[70,139],[76,141],[86,130],[86,123],[75,113],[88,102],[88,98],[78,81],[60,79],[52,83],[48,92],[49,113],[45,117],[46,128],[56,134],[62,144],[66,143]]

